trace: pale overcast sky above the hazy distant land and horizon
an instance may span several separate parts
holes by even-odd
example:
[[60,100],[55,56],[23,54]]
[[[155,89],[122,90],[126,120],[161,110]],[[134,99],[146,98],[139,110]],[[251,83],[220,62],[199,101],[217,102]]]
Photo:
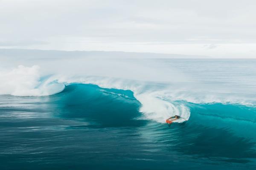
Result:
[[0,48],[256,58],[255,0],[0,0]]

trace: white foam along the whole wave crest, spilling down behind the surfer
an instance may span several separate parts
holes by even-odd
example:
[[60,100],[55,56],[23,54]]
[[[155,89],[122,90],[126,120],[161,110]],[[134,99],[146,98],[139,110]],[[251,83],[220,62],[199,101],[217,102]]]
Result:
[[[52,74],[42,76],[40,67],[18,66],[11,71],[0,72],[0,94],[15,96],[48,96],[60,93],[65,87],[73,84],[93,84],[101,88],[112,89],[108,93],[136,99],[141,103],[139,108],[143,113],[140,119],[151,119],[164,123],[170,116],[179,115],[183,119],[178,123],[189,120],[190,103],[223,103],[255,105],[254,96],[243,96],[234,93],[212,93],[210,91],[193,91],[196,84],[181,82],[149,82],[131,79],[102,77],[102,76],[74,76]],[[184,85],[185,84],[185,85]],[[117,94],[115,91],[127,90],[132,95]]]

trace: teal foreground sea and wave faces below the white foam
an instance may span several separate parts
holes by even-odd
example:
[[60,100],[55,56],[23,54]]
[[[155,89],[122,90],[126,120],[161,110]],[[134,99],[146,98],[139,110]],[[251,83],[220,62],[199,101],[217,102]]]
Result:
[[0,95],[0,169],[256,168],[256,108],[182,102],[189,121],[143,119],[129,90],[70,84],[51,96]]

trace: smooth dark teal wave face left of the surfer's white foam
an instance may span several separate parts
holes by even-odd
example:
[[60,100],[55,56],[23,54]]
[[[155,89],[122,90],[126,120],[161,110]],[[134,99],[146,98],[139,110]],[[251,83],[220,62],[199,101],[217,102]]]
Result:
[[53,97],[53,103],[63,106],[65,114],[59,116],[64,118],[77,117],[103,127],[138,126],[141,122],[137,119],[140,102],[131,91],[73,84]]

